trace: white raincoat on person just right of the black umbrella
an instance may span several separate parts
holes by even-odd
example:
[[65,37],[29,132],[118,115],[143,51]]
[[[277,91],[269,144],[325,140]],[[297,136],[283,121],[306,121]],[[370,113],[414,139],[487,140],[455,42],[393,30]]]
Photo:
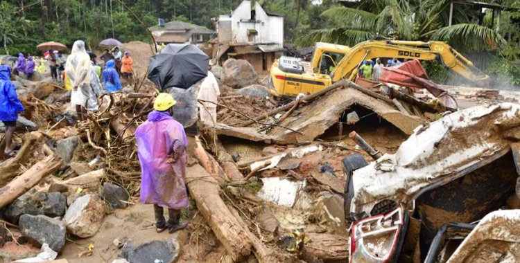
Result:
[[[211,102],[217,102],[218,96],[220,96],[220,89],[218,89],[218,82],[211,73],[207,72],[207,77],[202,80],[200,89],[198,91],[197,100],[208,100]],[[213,125],[216,123],[216,104],[210,102],[198,102],[198,109],[200,114],[200,120],[203,123]]]

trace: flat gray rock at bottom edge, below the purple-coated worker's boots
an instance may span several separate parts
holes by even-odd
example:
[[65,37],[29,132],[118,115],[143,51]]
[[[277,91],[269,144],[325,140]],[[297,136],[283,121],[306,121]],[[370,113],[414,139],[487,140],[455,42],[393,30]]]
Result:
[[180,246],[177,239],[154,240],[134,247],[134,242],[128,240],[121,250],[119,257],[123,257],[130,263],[175,262],[179,256]]

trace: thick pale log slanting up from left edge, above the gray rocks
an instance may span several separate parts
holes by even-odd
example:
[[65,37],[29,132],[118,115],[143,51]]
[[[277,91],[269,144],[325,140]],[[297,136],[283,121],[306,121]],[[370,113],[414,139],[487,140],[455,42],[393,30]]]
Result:
[[0,188],[0,208],[8,205],[15,199],[24,194],[41,179],[58,170],[62,165],[62,160],[58,156],[51,155],[37,162],[29,170],[17,176],[6,186]]

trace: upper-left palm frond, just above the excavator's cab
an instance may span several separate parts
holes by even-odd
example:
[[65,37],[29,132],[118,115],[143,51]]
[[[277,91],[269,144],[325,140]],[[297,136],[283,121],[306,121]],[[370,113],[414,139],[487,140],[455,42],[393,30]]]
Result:
[[336,21],[339,26],[355,26],[363,28],[374,28],[377,15],[354,8],[331,8],[322,13],[323,17]]

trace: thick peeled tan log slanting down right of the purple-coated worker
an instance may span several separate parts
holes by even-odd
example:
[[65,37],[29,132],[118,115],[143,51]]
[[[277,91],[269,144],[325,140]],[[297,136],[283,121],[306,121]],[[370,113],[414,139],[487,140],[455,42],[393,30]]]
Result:
[[248,257],[251,253],[251,240],[220,198],[220,187],[213,176],[196,164],[187,167],[186,184],[197,209],[232,259],[237,262]]

